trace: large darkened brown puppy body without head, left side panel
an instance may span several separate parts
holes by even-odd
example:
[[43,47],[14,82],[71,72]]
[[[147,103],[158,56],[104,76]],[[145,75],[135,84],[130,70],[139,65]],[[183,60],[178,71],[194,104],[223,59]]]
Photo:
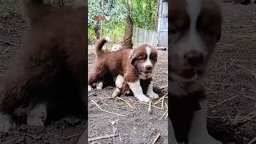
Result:
[[0,91],[0,131],[14,126],[14,110],[26,104],[30,126],[44,126],[52,112],[86,111],[86,5],[22,4],[30,26]]

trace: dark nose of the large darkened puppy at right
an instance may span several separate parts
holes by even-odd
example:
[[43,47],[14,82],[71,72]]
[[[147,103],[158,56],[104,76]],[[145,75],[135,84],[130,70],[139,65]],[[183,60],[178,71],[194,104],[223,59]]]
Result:
[[184,58],[190,66],[199,66],[203,63],[203,54],[197,51],[191,51],[185,54]]

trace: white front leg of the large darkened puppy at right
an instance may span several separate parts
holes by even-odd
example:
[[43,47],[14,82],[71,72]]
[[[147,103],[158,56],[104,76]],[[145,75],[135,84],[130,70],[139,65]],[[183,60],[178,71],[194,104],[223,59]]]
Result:
[[222,144],[208,134],[206,127],[207,100],[199,102],[201,110],[194,112],[190,127],[189,144]]

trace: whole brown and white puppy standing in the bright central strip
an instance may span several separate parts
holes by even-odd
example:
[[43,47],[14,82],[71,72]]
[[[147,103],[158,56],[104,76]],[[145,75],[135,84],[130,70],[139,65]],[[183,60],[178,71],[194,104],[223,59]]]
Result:
[[[94,69],[90,72],[88,90],[92,90],[95,83],[100,89],[102,81],[108,78],[114,78],[117,87],[112,94],[113,97],[118,96],[124,83],[126,83],[134,96],[142,102],[150,102],[150,98],[158,98],[158,94],[153,91],[152,72],[157,62],[158,53],[153,46],[140,45],[132,50],[122,49],[118,51],[102,51],[102,46],[107,42],[108,38],[101,38],[96,42],[95,54],[96,62]],[[141,80],[148,81],[146,87],[146,97],[143,94]]]

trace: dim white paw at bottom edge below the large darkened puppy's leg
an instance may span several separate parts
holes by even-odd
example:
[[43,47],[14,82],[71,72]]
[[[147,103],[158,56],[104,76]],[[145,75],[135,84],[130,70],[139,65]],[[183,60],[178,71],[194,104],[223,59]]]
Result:
[[189,144],[222,144],[210,135],[206,135],[200,138],[191,138]]

